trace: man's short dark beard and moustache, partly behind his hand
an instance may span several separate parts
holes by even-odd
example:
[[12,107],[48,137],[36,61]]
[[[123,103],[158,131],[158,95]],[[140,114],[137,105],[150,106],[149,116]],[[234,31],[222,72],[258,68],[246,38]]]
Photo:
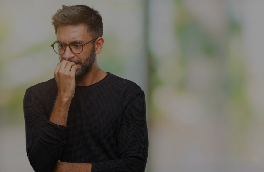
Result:
[[89,56],[87,56],[85,58],[85,61],[82,63],[82,61],[71,61],[74,62],[76,64],[80,64],[81,68],[77,68],[76,73],[75,73],[75,78],[80,78],[83,75],[85,75],[87,72],[89,72],[92,68],[92,65],[95,62],[95,52],[94,52],[94,45],[92,47],[92,51],[89,54]]

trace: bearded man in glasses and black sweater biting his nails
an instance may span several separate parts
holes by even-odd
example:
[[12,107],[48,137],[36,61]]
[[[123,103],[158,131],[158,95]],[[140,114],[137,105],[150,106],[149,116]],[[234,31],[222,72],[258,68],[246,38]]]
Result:
[[61,62],[54,78],[26,89],[26,152],[35,171],[144,171],[148,156],[145,94],[101,70],[102,17],[85,6],[52,16]]

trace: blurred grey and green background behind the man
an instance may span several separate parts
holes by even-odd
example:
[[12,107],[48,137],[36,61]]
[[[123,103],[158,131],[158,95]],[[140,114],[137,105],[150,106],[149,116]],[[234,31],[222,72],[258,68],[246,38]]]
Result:
[[51,16],[94,6],[106,72],[146,94],[147,172],[263,171],[263,0],[0,0],[0,171],[33,171],[26,88],[54,77]]

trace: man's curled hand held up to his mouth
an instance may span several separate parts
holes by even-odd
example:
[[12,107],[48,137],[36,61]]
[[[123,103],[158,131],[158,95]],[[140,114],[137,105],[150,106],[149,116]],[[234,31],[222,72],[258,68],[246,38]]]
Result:
[[58,86],[58,97],[63,99],[72,99],[75,92],[75,72],[77,65],[68,60],[62,60],[58,63],[54,76]]

